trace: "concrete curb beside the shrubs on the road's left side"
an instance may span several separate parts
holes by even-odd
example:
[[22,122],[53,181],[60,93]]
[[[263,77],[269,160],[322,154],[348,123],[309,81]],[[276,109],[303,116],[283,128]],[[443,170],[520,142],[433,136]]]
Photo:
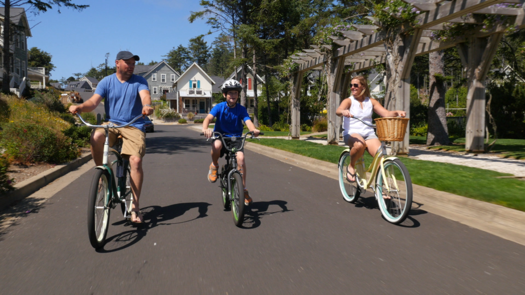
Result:
[[57,165],[54,168],[49,169],[48,171],[42,172],[23,182],[17,183],[14,186],[14,191],[0,196],[0,211],[12,205],[15,202],[18,202],[30,196],[34,192],[38,191],[38,189],[55,181],[57,178],[75,170],[76,168],[87,163],[91,159],[91,152],[86,152],[83,153],[76,160],[71,161],[70,163],[64,165]]

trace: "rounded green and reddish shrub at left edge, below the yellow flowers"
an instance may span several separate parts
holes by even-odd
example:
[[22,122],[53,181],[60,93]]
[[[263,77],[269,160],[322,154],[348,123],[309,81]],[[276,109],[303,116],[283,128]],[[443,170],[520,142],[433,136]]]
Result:
[[78,146],[66,135],[28,121],[4,124],[0,146],[13,157],[14,161],[23,164],[35,162],[59,164],[80,155]]

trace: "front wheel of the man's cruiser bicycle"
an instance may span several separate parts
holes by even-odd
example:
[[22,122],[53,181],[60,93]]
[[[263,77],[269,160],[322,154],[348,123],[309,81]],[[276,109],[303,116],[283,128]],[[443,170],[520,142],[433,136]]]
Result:
[[106,235],[108,234],[111,205],[103,208],[109,198],[109,190],[111,189],[108,180],[109,173],[106,170],[97,169],[89,192],[88,236],[91,246],[95,249],[106,244]]

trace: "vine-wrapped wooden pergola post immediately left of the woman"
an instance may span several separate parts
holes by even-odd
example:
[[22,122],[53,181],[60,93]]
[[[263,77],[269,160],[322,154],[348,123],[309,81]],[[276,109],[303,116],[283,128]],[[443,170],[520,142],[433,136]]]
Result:
[[334,59],[330,68],[330,79],[328,81],[328,144],[339,144],[339,127],[341,118],[337,117],[335,110],[341,102],[342,76],[344,72],[344,57]]

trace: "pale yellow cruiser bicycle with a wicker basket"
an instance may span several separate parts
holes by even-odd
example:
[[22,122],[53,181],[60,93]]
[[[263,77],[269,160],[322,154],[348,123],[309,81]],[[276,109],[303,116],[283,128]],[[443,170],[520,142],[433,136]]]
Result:
[[[402,141],[404,138],[406,125],[408,119],[405,118],[380,118],[375,119],[376,125],[371,125],[360,118],[353,117],[373,128],[377,128],[377,137],[381,141],[381,148],[377,150],[372,163],[368,170],[365,171],[364,165],[364,153],[358,161],[355,162],[355,181],[350,182],[346,178],[346,171],[348,165],[350,165],[350,149],[346,149],[341,153],[339,157],[339,186],[341,187],[341,193],[346,202],[355,203],[361,194],[366,192],[367,188],[371,188],[375,193],[375,199],[379,204],[379,209],[383,217],[388,222],[393,224],[400,224],[404,222],[410,208],[412,207],[412,180],[410,174],[405,165],[397,159],[397,157],[387,157],[385,141]],[[384,130],[380,130],[385,125],[383,121],[379,124],[380,120],[398,121],[401,124],[397,124],[394,127],[395,134],[388,135],[394,136],[394,138],[387,138]],[[392,120],[394,119],[394,120]],[[391,124],[388,122],[389,124]],[[388,128],[391,129],[391,128]],[[388,130],[389,133],[390,130]],[[395,137],[397,136],[397,137]],[[366,179],[366,173],[370,173],[370,177]],[[375,180],[375,185],[374,185]]]

